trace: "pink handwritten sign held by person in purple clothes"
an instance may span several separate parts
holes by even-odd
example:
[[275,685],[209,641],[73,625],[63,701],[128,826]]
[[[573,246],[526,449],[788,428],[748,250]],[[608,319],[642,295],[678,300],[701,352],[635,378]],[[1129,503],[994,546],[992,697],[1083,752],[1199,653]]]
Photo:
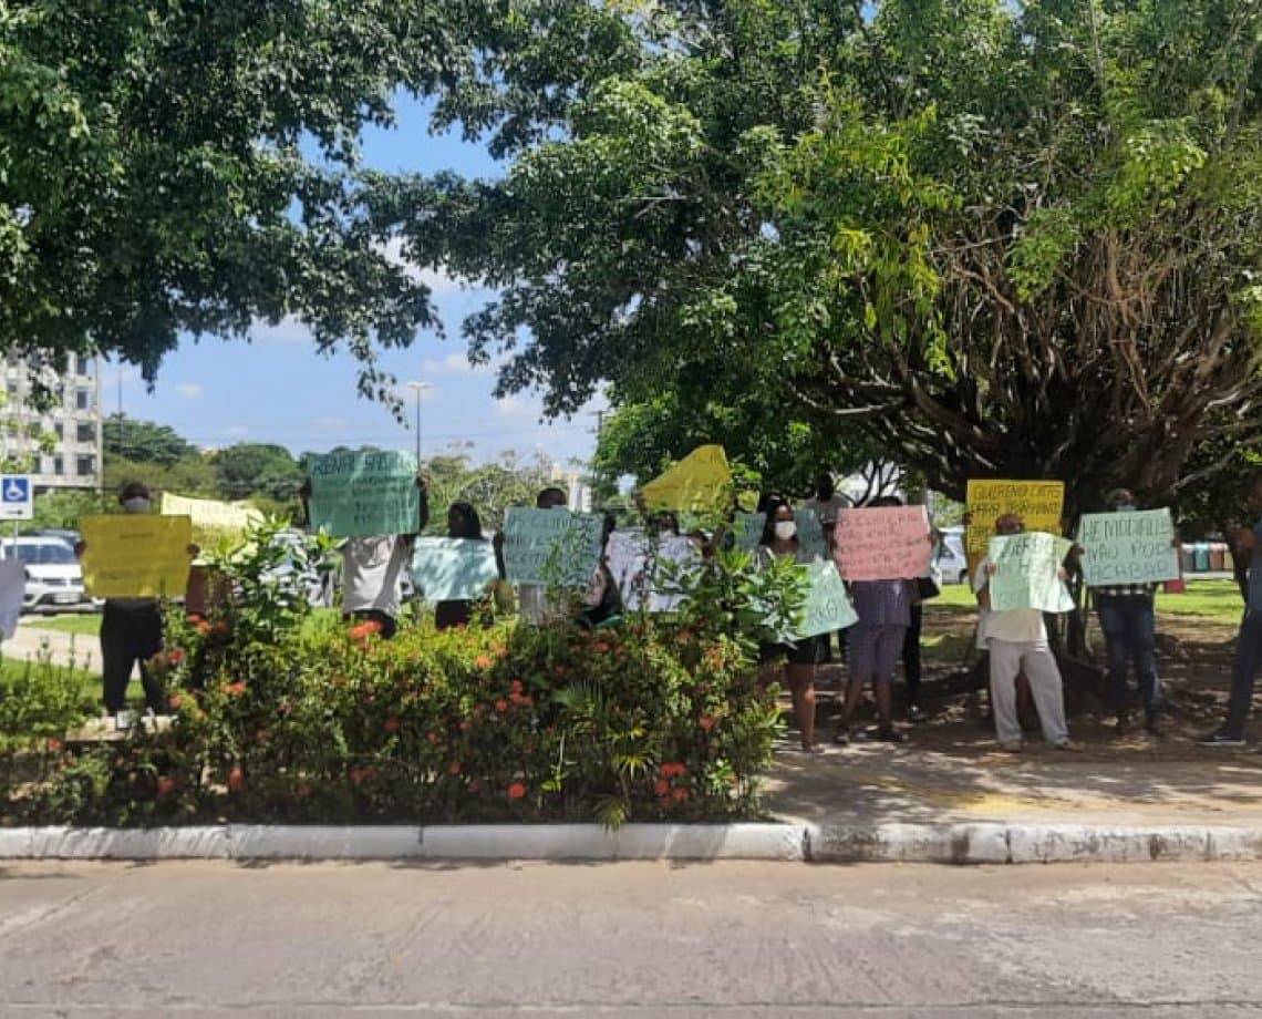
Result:
[[837,514],[837,568],[848,581],[929,576],[929,515],[924,506],[881,506]]

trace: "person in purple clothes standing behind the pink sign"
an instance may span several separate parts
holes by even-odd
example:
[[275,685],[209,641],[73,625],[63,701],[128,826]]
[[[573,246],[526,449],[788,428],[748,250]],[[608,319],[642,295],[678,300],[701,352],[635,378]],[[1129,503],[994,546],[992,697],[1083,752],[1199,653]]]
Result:
[[[901,506],[897,496],[882,496],[872,501],[872,508]],[[911,625],[911,604],[916,599],[914,580],[853,581],[851,600],[858,623],[849,628],[847,644],[849,682],[842,718],[833,735],[835,742],[851,741],[851,724],[863,697],[863,687],[872,683],[876,694],[878,727],[876,739],[881,742],[904,742],[906,735],[893,727],[893,669],[902,654],[907,629]]]

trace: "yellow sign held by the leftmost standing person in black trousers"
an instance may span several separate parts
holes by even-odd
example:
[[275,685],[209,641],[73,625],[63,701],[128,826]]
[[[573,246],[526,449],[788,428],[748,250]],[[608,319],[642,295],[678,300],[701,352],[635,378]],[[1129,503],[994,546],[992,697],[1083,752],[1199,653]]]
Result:
[[124,513],[85,516],[83,586],[98,599],[183,597],[188,585],[187,516]]

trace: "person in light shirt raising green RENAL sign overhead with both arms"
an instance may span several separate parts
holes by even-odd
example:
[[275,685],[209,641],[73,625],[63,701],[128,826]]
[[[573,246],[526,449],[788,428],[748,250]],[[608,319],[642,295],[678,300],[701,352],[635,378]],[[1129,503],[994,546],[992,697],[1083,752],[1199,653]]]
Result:
[[[357,635],[377,633],[382,640],[390,640],[399,631],[403,578],[411,564],[416,535],[429,523],[429,491],[420,474],[416,487],[420,511],[414,532],[352,537],[342,543],[342,619],[361,624],[355,628]],[[300,490],[308,519],[310,491],[308,480]]]

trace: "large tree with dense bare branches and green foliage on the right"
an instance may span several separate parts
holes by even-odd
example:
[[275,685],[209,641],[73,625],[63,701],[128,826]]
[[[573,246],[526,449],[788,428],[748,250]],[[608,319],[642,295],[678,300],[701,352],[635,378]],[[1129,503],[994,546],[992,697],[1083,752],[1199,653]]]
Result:
[[505,178],[396,211],[550,413],[738,372],[957,498],[1167,499],[1262,439],[1259,40],[1241,0],[528,4],[452,98]]

